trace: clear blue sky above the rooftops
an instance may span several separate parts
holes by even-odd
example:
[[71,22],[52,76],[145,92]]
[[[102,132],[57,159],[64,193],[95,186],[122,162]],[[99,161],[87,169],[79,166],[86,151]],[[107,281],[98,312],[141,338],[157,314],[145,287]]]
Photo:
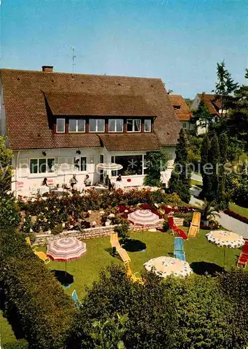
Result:
[[1,67],[161,77],[211,92],[217,61],[245,83],[248,0],[1,0]]

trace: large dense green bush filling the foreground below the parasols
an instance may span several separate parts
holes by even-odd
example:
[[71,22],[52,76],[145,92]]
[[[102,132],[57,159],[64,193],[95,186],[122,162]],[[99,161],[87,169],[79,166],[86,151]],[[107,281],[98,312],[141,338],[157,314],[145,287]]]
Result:
[[238,329],[238,297],[229,299],[218,278],[161,279],[144,272],[143,281],[132,283],[117,265],[103,271],[75,314],[68,348],[95,348],[92,322],[102,325],[117,313],[128,316],[121,338],[126,348],[238,349],[247,344],[248,327]]

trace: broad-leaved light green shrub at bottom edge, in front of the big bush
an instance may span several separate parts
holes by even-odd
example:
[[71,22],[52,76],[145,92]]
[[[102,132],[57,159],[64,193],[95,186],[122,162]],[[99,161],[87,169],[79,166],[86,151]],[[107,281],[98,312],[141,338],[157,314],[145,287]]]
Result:
[[125,349],[122,336],[126,332],[127,315],[119,315],[105,321],[94,321],[90,336],[96,349]]

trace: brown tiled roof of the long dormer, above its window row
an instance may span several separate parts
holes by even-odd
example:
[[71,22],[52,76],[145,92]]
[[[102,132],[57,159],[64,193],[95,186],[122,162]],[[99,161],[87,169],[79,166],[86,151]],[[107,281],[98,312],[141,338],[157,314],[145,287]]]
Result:
[[54,115],[155,117],[142,96],[94,94],[45,94]]

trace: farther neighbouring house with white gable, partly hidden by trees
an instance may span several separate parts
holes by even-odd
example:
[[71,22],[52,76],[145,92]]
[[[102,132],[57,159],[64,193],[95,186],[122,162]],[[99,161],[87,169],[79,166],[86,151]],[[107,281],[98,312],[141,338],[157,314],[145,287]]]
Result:
[[[194,101],[191,103],[192,111],[198,109],[200,101],[204,101],[207,106],[208,111],[212,115],[212,122],[219,121],[219,118],[226,116],[228,112],[226,108],[221,107],[221,101],[217,100],[214,94],[206,94],[205,92],[202,92],[202,94],[196,94]],[[198,135],[207,132],[208,124],[209,123],[200,120],[196,122]]]

